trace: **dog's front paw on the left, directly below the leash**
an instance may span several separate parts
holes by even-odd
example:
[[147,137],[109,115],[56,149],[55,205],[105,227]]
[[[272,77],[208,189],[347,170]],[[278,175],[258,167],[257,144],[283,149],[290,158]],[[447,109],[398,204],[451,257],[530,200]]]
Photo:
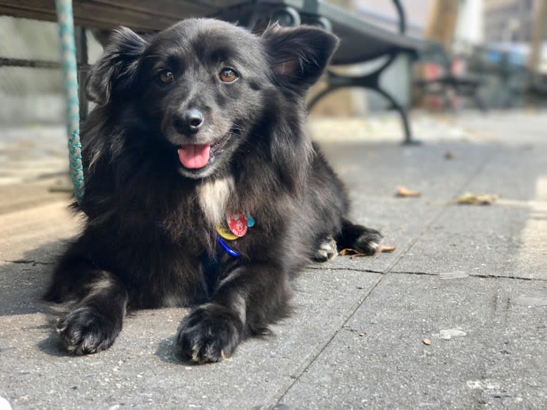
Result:
[[66,349],[74,354],[89,354],[108,349],[121,330],[109,317],[94,307],[80,307],[57,323],[57,332]]

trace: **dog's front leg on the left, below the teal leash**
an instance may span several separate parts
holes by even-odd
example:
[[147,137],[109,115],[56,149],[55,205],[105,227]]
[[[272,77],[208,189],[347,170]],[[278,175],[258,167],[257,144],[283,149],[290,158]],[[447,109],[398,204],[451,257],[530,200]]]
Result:
[[69,352],[89,354],[114,343],[121,331],[128,296],[124,285],[111,273],[86,260],[64,258],[44,299],[76,301],[56,329]]

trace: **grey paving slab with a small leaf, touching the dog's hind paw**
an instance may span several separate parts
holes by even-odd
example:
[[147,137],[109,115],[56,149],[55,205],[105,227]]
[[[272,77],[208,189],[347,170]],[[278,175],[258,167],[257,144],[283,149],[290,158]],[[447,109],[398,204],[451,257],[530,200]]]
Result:
[[[380,230],[384,243],[396,247],[394,252],[381,257],[338,257],[329,266],[374,272],[386,272],[398,262],[500,149],[497,145],[470,143],[411,147],[323,143],[322,146],[338,175],[348,185],[353,220]],[[451,153],[452,159],[447,160],[446,153]],[[399,185],[417,190],[421,196],[397,198],[395,193]],[[416,271],[418,267],[421,265],[408,267],[408,270]]]

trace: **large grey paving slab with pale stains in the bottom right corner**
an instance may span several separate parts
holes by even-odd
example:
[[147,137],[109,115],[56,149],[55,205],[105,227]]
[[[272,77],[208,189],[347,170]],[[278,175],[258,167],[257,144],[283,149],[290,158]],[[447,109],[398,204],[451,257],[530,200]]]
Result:
[[278,407],[545,409],[546,315],[547,282],[390,273]]

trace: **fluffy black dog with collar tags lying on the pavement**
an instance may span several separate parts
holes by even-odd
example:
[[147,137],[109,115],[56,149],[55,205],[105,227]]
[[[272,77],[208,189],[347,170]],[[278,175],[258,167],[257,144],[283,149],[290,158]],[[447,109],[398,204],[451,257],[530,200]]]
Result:
[[[320,29],[260,36],[189,19],[114,32],[87,91],[87,215],[46,299],[77,354],[111,346],[126,309],[192,306],[182,356],[217,362],[290,312],[290,280],[381,235],[346,220],[343,185],[304,130],[304,98],[336,48]],[[335,242],[336,241],[336,242]]]

